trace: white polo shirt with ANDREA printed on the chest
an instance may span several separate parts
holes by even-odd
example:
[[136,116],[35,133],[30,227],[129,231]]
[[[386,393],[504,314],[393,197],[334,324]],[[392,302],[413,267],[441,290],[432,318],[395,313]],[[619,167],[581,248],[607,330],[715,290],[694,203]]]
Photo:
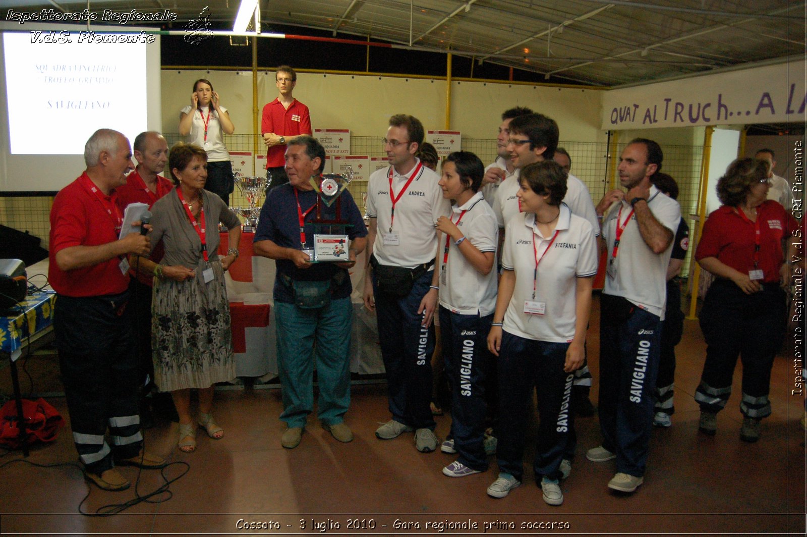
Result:
[[[367,216],[375,218],[378,233],[373,243],[375,258],[382,265],[414,268],[433,261],[437,254],[437,229],[434,224],[440,216],[448,216],[449,201],[443,199],[440,177],[426,166],[415,167],[406,175],[400,175],[389,166],[376,170],[367,182]],[[392,219],[389,174],[392,173],[392,192],[396,197],[410,177],[412,182],[395,203],[395,219]],[[392,228],[397,233],[399,244],[384,244],[383,237]]]

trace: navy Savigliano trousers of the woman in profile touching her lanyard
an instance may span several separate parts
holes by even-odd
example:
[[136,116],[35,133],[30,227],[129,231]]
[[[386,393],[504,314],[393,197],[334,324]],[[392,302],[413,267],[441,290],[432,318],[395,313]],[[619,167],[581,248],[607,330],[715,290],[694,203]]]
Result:
[[443,306],[439,309],[445,376],[451,385],[450,437],[454,438],[459,462],[484,472],[485,373],[491,359],[487,333],[493,314],[479,317],[451,313]]

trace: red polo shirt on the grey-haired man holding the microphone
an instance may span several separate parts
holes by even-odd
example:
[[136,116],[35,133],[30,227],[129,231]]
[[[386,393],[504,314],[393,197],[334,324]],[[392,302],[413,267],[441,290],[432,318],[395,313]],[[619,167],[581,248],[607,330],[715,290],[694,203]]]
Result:
[[65,296],[115,295],[126,291],[129,277],[120,272],[120,258],[73,271],[62,271],[56,252],[70,246],[97,246],[117,241],[117,218],[107,207],[115,205],[115,194],[90,191],[92,182],[84,172],[56,194],[50,214],[50,266],[48,279],[57,293]]

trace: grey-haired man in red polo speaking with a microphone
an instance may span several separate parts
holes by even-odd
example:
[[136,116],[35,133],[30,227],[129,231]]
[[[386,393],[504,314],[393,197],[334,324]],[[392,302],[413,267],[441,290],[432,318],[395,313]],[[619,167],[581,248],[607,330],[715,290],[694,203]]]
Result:
[[[106,490],[129,486],[115,462],[162,468],[142,451],[137,355],[132,345],[128,254],[148,254],[148,237],[119,239],[123,216],[115,188],[132,170],[120,132],[102,128],[84,147],[85,172],[53,200],[49,278],[56,290],[53,327],[73,442],[88,480]],[[140,222],[136,222],[140,225]],[[109,427],[112,447],[104,435]],[[113,459],[114,457],[114,459]]]

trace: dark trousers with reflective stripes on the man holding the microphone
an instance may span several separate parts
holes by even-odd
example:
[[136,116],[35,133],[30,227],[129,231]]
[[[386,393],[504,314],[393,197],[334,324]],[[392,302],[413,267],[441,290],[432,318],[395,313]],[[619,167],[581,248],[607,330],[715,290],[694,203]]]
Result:
[[[58,296],[53,328],[70,426],[88,472],[137,455],[143,443],[138,415],[139,371],[128,292],[115,296]],[[109,427],[112,447],[104,435]]]

